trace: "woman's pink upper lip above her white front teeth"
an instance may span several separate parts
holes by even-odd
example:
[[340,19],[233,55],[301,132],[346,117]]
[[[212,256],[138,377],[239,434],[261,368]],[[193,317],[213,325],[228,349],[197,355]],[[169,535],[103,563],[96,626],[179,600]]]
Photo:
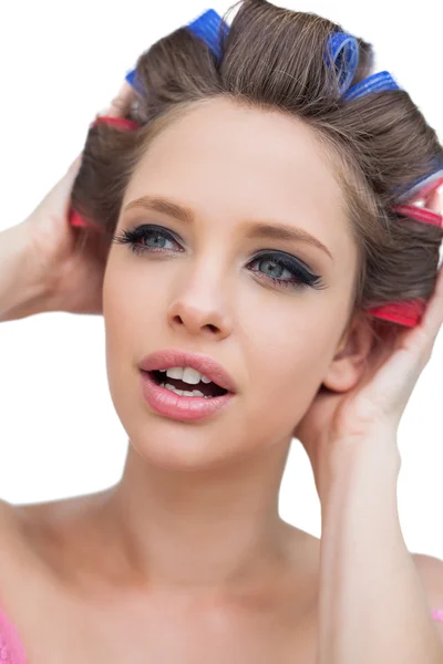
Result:
[[187,353],[186,351],[176,351],[173,349],[157,351],[156,353],[152,353],[142,360],[138,365],[138,367],[145,372],[159,371],[161,369],[171,369],[173,366],[189,366],[190,369],[195,369],[200,374],[208,377],[210,381],[213,381],[213,383],[216,383],[224,390],[227,390],[227,392],[230,392],[231,394],[237,392],[235,381],[227,373],[227,371],[220,364],[218,364],[218,362],[215,362],[215,360],[202,353]]

